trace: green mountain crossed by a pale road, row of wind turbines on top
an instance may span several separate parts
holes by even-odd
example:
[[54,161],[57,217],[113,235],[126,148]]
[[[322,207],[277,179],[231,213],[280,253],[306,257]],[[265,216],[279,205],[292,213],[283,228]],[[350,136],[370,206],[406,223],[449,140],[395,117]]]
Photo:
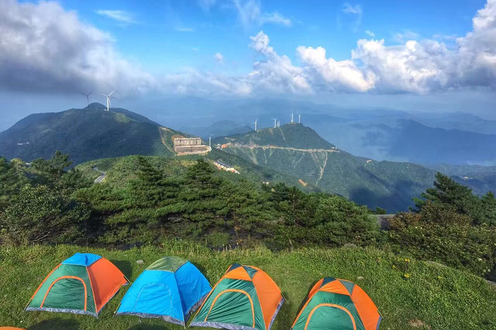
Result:
[[412,163],[353,156],[302,124],[290,123],[241,136],[214,139],[222,150],[290,174],[323,191],[369,208],[407,210],[412,197],[432,186],[435,171]]

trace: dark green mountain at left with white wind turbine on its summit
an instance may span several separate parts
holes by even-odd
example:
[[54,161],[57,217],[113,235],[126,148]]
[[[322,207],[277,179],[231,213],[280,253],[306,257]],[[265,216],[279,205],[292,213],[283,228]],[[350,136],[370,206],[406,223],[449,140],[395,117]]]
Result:
[[26,162],[48,159],[60,150],[75,163],[125,155],[174,155],[173,135],[184,133],[119,108],[105,111],[92,103],[84,109],[35,113],[0,133],[0,155]]

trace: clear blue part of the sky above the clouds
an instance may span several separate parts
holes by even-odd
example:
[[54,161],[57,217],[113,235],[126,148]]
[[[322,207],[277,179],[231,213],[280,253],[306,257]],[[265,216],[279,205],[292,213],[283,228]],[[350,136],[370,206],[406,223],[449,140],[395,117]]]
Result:
[[[161,73],[195,67],[226,73],[248,73],[256,54],[249,49],[249,36],[263,30],[280,54],[297,61],[296,48],[322,46],[336,60],[350,57],[357,40],[385,39],[401,43],[398,34],[416,38],[463,36],[472,27],[472,17],[484,0],[450,1],[264,1],[262,12],[278,13],[291,21],[244,23],[235,4],[216,1],[205,9],[200,1],[60,1],[80,19],[116,39],[116,48],[147,71]],[[361,14],[346,13],[346,4]],[[98,10],[122,11],[122,19],[97,14]],[[131,22],[126,22],[126,19]],[[221,53],[223,65],[214,55]]]

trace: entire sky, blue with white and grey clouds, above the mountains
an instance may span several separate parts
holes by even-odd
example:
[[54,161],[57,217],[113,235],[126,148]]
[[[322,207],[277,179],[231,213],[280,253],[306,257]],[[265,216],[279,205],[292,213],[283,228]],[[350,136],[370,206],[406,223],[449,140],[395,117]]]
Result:
[[0,35],[0,130],[113,89],[496,119],[496,0],[2,0]]

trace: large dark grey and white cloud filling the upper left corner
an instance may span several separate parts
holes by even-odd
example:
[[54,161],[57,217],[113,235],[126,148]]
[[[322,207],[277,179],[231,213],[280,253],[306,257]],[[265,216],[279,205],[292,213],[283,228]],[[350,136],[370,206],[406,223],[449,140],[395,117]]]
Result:
[[112,38],[57,2],[0,1],[0,87],[80,92],[150,88],[154,78],[126,61]]

